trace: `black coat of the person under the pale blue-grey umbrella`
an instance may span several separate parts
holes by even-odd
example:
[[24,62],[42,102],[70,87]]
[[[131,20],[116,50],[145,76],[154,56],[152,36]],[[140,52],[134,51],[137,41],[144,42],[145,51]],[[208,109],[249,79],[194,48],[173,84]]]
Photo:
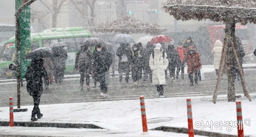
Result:
[[[128,62],[121,62],[123,54],[126,55]],[[129,48],[129,45],[120,45],[118,49],[116,50],[116,55],[119,57],[119,63],[118,63],[118,71],[123,71],[123,72],[130,72],[130,65],[132,61],[132,51]]]

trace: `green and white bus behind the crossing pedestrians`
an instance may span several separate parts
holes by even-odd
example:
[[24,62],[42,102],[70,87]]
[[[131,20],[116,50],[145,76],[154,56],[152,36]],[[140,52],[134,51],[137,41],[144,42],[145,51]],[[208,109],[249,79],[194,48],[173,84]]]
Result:
[[[60,42],[66,45],[65,49],[68,53],[65,73],[73,74],[76,53],[80,50],[78,45],[82,40],[91,37],[90,31],[82,27],[46,29],[42,33],[31,33],[31,49],[26,49],[26,54],[31,50],[52,47],[54,43]],[[15,77],[14,72],[9,70],[9,64],[15,60],[15,37],[7,40],[0,52],[0,77]]]

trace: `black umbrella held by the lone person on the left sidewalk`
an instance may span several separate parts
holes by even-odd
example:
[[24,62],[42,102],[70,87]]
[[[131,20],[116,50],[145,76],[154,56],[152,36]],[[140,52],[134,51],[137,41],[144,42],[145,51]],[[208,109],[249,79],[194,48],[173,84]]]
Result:
[[51,58],[52,57],[52,49],[49,47],[37,48],[24,57],[24,59],[42,59],[42,58]]

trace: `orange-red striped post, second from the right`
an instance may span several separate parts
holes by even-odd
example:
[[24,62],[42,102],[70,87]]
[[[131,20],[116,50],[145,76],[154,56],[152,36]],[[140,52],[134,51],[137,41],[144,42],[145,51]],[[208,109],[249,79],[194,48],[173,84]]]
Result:
[[188,111],[188,136],[194,137],[191,99],[187,99],[187,111]]

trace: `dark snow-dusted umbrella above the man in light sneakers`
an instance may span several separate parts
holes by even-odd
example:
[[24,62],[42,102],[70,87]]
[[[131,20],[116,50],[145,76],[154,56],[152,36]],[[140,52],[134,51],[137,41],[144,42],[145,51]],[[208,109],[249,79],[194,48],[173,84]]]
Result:
[[105,43],[104,40],[100,38],[88,38],[80,42],[81,47],[90,47],[90,46],[106,46],[107,44]]

